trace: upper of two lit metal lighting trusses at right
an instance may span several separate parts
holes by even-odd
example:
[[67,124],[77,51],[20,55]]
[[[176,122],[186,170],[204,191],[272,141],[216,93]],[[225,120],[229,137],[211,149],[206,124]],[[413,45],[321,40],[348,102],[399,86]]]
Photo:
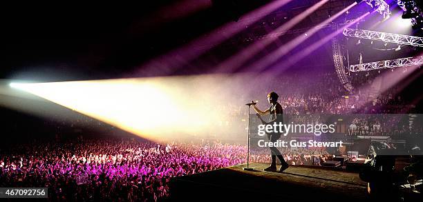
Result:
[[371,39],[375,41],[385,41],[397,44],[423,47],[423,37],[414,37],[386,32],[375,32],[369,30],[355,30],[350,28],[344,29],[343,34],[347,37],[356,37],[360,39]]

